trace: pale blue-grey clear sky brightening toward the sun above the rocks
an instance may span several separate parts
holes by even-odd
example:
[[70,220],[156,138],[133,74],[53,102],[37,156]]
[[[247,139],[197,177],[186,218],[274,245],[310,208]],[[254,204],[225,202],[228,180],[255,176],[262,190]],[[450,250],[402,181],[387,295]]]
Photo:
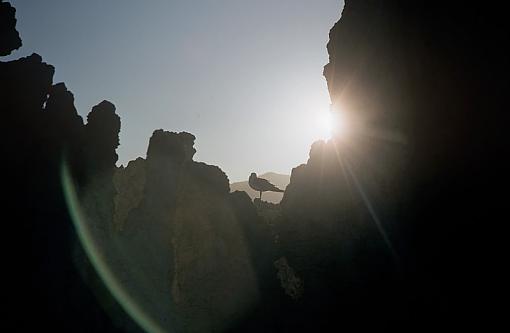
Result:
[[326,138],[322,76],[342,0],[10,0],[23,46],[55,66],[85,118],[121,117],[120,164],[156,129],[196,136],[195,160],[230,181],[290,174]]

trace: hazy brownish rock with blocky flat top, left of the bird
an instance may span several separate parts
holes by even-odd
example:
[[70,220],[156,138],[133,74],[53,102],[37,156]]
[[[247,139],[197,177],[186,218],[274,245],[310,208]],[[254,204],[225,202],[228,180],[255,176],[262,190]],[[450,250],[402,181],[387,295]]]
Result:
[[125,256],[120,280],[163,328],[225,330],[271,288],[275,252],[250,199],[229,194],[221,169],[192,160],[194,140],[157,130],[147,159],[117,170],[110,255]]

